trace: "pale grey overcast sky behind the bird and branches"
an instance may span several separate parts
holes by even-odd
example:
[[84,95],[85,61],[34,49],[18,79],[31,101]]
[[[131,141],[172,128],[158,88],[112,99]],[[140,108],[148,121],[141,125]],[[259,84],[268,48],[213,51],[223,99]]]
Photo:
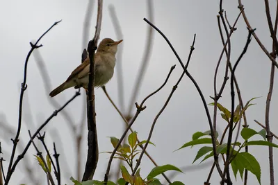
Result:
[[[272,19],[275,17],[276,2],[270,0],[270,8]],[[61,0],[61,1],[3,1],[1,0],[0,17],[0,73],[1,73],[1,96],[0,96],[0,114],[1,122],[4,122],[14,128],[17,127],[18,119],[18,104],[20,84],[23,80],[24,61],[28,51],[30,50],[31,41],[35,41],[49,28],[55,21],[63,19],[63,21],[55,26],[47,35],[43,37],[40,44],[43,45],[39,49],[42,58],[46,64],[47,71],[51,78],[51,87],[60,85],[81,62],[81,53],[83,39],[83,19],[88,1],[77,0]],[[256,34],[263,42],[268,51],[272,49],[272,41],[268,30],[268,24],[265,17],[265,9],[263,1],[243,1],[245,12],[250,24],[256,28]],[[117,38],[113,28],[112,20],[109,15],[108,6],[115,6],[117,17],[122,26],[124,37]],[[231,24],[238,16],[238,4],[236,1],[224,1],[223,8],[227,11],[227,16]],[[147,29],[149,26],[143,18],[148,18],[146,1],[104,1],[103,19],[101,26],[100,39],[111,37],[112,39],[124,39],[120,44],[123,49],[122,65],[124,77],[124,110],[129,106],[131,92],[134,81],[136,80],[137,71],[142,62],[142,55],[145,51]],[[154,1],[154,24],[160,28],[172,45],[179,53],[179,56],[186,62],[190,50],[190,45],[193,41],[193,36],[196,33],[195,51],[190,60],[188,70],[198,82],[202,89],[207,103],[212,100],[209,96],[213,96],[213,74],[216,63],[222,50],[222,42],[220,39],[216,15],[219,11],[218,1]],[[90,29],[90,38],[95,33],[97,3],[95,3],[92,15],[92,24]],[[240,17],[237,30],[231,37],[231,63],[234,64],[240,55],[247,39],[247,28],[243,17]],[[224,60],[220,65],[220,73],[218,74],[218,89],[223,80],[224,75]],[[138,132],[138,137],[141,140],[147,139],[149,128],[154,120],[154,117],[159,112],[167,96],[172,90],[172,86],[177,82],[182,73],[181,67],[174,53],[170,50],[163,37],[154,32],[154,44],[152,46],[152,55],[147,66],[145,77],[142,81],[142,87],[139,96],[136,98],[138,103],[141,103],[149,93],[157,89],[165,80],[168,71],[172,65],[177,64],[176,69],[172,73],[169,82],[165,87],[154,97],[146,102],[145,109],[134,124],[133,129]],[[240,86],[240,91],[243,96],[244,103],[251,98],[261,96],[254,100],[256,105],[247,110],[248,125],[254,130],[261,130],[259,125],[254,123],[254,119],[264,123],[265,121],[265,100],[268,94],[269,78],[270,78],[270,60],[261,51],[261,48],[252,39],[250,47],[240,61],[236,70],[236,78]],[[117,68],[117,64],[116,64]],[[113,79],[108,82],[106,89],[119,105],[117,94],[117,73]],[[277,77],[275,77],[275,84]],[[22,143],[28,141],[28,132],[35,132],[36,128],[41,125],[44,120],[52,114],[54,107],[49,103],[49,91],[45,91],[38,65],[35,63],[33,56],[28,62],[28,89],[25,91],[24,97],[24,117],[22,125]],[[274,87],[272,102],[270,107],[270,126],[272,132],[278,134],[277,125],[277,108],[278,98],[277,85]],[[74,95],[74,89],[67,89],[63,94],[59,94],[55,99],[62,105],[66,100]],[[82,94],[84,92],[82,91]],[[111,103],[104,95],[101,89],[95,91],[96,94],[96,109],[97,109],[97,132],[99,136],[99,151],[111,151],[113,147],[108,136],[120,137],[122,135],[123,122],[120,115],[117,114]],[[65,108],[65,111],[72,115],[74,123],[79,124],[83,111],[82,96],[79,96],[70,105]],[[219,101],[222,105],[230,109],[230,88],[229,81],[224,89],[222,98]],[[236,100],[238,103],[238,100]],[[30,110],[28,112],[28,109]],[[213,115],[213,107],[209,107],[211,116]],[[135,112],[135,107],[133,109]],[[32,126],[33,124],[33,126]],[[221,133],[227,124],[218,114],[218,129]],[[47,125],[47,144],[52,150],[52,142],[58,144],[58,152],[63,173],[63,184],[70,184],[70,176],[76,177],[75,166],[75,146],[70,128],[67,127],[67,122],[58,114]],[[58,130],[60,138],[55,137],[53,133]],[[197,131],[204,132],[209,130],[208,121],[199,98],[199,94],[192,82],[185,76],[175,91],[174,96],[167,105],[165,112],[158,118],[152,142],[156,147],[149,146],[150,155],[156,160],[159,165],[173,164],[177,167],[191,166],[199,146],[194,148],[184,148],[177,152],[172,152],[181,147],[183,143],[191,140],[193,133]],[[1,131],[1,146],[3,149],[3,157],[7,159],[10,156],[12,142],[10,135]],[[51,134],[52,133],[52,134]],[[83,131],[83,136],[86,139],[87,131]],[[9,138],[7,138],[9,136]],[[254,139],[261,139],[255,136]],[[85,164],[87,141],[83,140],[82,155]],[[277,140],[274,139],[277,143]],[[62,145],[60,144],[62,143]],[[63,151],[62,151],[63,150]],[[277,150],[274,151],[277,155]],[[268,167],[268,148],[253,146],[250,147],[250,153],[256,157],[261,164],[261,184],[269,184],[269,167]],[[42,170],[35,164],[33,155],[35,150],[31,147],[28,155],[23,160],[31,161],[31,166],[38,171]],[[106,170],[109,155],[100,154],[95,179],[102,180]],[[65,161],[67,166],[65,166]],[[115,160],[117,161],[117,160]],[[116,162],[113,164],[117,165]],[[199,161],[197,161],[197,165]],[[22,168],[23,161],[20,162],[20,167],[13,174],[10,184],[31,184],[26,176],[25,170]],[[222,162],[220,162],[222,165]],[[278,160],[275,157],[275,172],[277,173]],[[146,177],[149,170],[153,168],[153,164],[143,157],[142,160],[142,177]],[[4,163],[7,168],[8,163]],[[184,184],[203,184],[206,181],[210,166],[197,168],[194,170],[185,170],[183,174],[177,175],[172,181],[180,180]],[[83,172],[82,172],[83,173]],[[169,174],[169,173],[168,173]],[[40,177],[42,183],[45,184],[44,178]],[[242,184],[240,176],[234,184]],[[161,177],[164,182],[163,177]],[[278,176],[275,177],[278,182]],[[252,174],[248,179],[250,184],[258,184],[256,177]],[[219,175],[215,170],[211,179],[211,184],[220,182]]]

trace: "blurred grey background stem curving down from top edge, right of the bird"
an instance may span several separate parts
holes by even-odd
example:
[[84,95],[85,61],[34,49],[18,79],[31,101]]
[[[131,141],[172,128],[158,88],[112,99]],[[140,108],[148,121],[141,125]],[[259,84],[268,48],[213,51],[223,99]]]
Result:
[[[152,0],[147,0],[147,13],[149,16],[149,19],[151,21],[154,21],[154,13],[153,13],[153,1]],[[135,87],[132,91],[132,95],[131,95],[131,100],[129,103],[129,108],[128,108],[128,113],[127,115],[129,117],[131,117],[131,111],[132,111],[132,107],[133,107],[133,103],[136,101],[136,96],[138,95],[138,91],[140,88],[140,85],[142,83],[142,80],[144,78],[145,75],[145,71],[147,69],[147,65],[149,63],[149,58],[152,54],[152,46],[153,46],[153,42],[154,42],[154,31],[152,30],[152,28],[147,28],[147,39],[146,39],[146,46],[145,51],[144,51],[144,55],[142,57],[142,62],[141,62],[141,66],[140,69],[138,71],[138,75],[136,77],[136,82],[134,83]]]

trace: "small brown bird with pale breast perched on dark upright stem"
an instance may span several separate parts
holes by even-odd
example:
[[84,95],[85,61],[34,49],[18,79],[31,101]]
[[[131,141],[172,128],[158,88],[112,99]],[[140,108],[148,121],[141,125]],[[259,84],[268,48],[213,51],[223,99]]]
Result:
[[[117,45],[121,42],[122,39],[115,42],[113,39],[106,38],[99,43],[95,53],[95,87],[101,87],[111,80],[116,62]],[[70,87],[88,89],[89,72],[90,59],[87,57],[79,67],[72,71],[69,78],[62,85],[51,91],[49,96],[54,97]]]

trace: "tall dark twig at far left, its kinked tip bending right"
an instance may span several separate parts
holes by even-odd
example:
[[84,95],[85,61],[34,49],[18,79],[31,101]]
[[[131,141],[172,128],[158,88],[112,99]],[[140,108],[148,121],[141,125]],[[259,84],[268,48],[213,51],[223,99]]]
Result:
[[[62,21],[62,20],[60,20]],[[24,64],[24,79],[23,79],[23,82],[22,82],[22,88],[21,88],[21,92],[20,92],[20,98],[19,98],[19,116],[18,116],[18,125],[17,125],[17,134],[15,135],[15,139],[12,139],[13,141],[13,151],[12,151],[12,154],[10,155],[10,163],[9,163],[9,166],[8,166],[8,173],[7,173],[7,176],[8,174],[11,174],[13,172],[11,172],[11,168],[12,168],[12,165],[13,165],[13,159],[15,157],[15,150],[17,148],[17,143],[19,141],[19,134],[20,134],[20,130],[21,130],[21,127],[22,127],[22,105],[23,105],[23,96],[24,96],[24,91],[27,89],[27,85],[26,85],[26,81],[27,81],[27,66],[28,66],[28,60],[31,56],[31,53],[33,53],[33,51],[35,49],[38,49],[42,46],[42,44],[40,45],[37,45],[38,42],[40,42],[40,39],[42,39],[42,37],[44,35],[46,35],[49,30],[51,30],[51,28],[53,28],[54,26],[56,26],[58,23],[60,23],[60,21],[56,21],[46,32],[44,32],[40,38],[35,42],[35,44],[33,44],[32,42],[30,42],[30,45],[31,45],[31,49],[30,51],[28,52],[27,54],[27,57],[26,57],[26,60],[25,60],[25,64]],[[8,177],[7,177],[8,178]]]

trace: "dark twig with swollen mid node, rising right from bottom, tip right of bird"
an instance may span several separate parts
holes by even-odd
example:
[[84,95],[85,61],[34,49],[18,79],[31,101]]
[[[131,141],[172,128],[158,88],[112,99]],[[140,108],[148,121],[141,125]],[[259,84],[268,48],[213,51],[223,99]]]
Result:
[[122,143],[122,141],[124,140],[124,137],[126,136],[126,133],[129,131],[130,127],[133,125],[134,121],[136,121],[136,118],[138,117],[138,115],[140,114],[140,112],[142,112],[146,106],[144,105],[145,101],[147,101],[148,98],[150,98],[151,96],[154,96],[154,94],[156,94],[158,91],[160,91],[167,83],[167,80],[170,78],[170,75],[172,73],[172,71],[174,70],[175,66],[172,66],[170,69],[170,72],[167,75],[167,78],[165,80],[165,82],[163,83],[163,85],[161,85],[161,87],[159,87],[158,89],[156,89],[156,91],[152,92],[151,94],[149,94],[148,96],[146,96],[146,98],[144,98],[144,100],[142,100],[142,103],[140,105],[138,105],[138,103],[136,103],[136,114],[133,116],[133,118],[131,119],[131,121],[129,122],[129,126],[126,127],[126,130],[124,131],[124,133],[122,134],[121,138],[119,139],[117,146],[115,146],[111,157],[108,161],[108,166],[106,169],[106,174],[104,176],[104,182],[107,183],[108,182],[108,177],[109,177],[109,172],[110,172],[110,168],[111,168],[111,164],[113,161],[113,157],[115,155],[115,152],[117,152],[117,149],[120,147],[120,144]]

